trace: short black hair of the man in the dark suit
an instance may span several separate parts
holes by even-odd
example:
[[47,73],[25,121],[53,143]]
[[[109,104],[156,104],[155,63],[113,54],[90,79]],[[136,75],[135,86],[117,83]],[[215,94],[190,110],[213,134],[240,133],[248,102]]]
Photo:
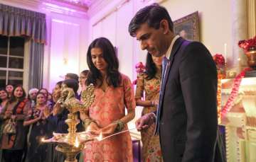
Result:
[[174,23],[171,21],[168,11],[159,4],[151,4],[140,9],[132,21],[129,23],[129,33],[132,37],[135,36],[136,31],[140,28],[142,23],[147,23],[149,27],[159,29],[160,22],[165,19],[169,23],[169,29],[174,31]]

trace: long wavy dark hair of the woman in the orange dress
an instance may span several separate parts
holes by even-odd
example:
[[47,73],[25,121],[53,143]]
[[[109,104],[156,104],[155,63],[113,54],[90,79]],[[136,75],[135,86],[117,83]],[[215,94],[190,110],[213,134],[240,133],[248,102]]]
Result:
[[[102,50],[103,58],[105,59],[105,62],[107,62],[107,84],[116,88],[121,84],[122,79],[121,74],[118,71],[119,62],[112,43],[105,37],[99,37],[96,40],[93,40],[88,48],[87,65],[90,72],[86,80],[86,85],[88,86],[90,83],[93,83],[95,86],[101,86],[103,83],[102,74],[92,63],[92,48],[100,48]],[[100,81],[99,85],[97,84],[97,80]]]

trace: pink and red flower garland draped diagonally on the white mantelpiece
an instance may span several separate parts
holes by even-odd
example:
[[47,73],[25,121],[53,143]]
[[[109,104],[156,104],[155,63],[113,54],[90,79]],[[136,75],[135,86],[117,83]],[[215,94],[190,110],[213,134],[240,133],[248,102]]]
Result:
[[242,79],[245,77],[245,73],[250,70],[252,70],[252,69],[250,67],[247,67],[247,68],[243,69],[240,72],[240,74],[238,74],[238,76],[235,76],[230,96],[228,97],[228,101],[227,101],[227,103],[225,103],[225,106],[223,107],[223,110],[221,111],[221,114],[220,114],[221,117],[225,117],[227,112],[229,112],[230,109],[232,108],[235,98],[238,96],[240,83],[241,83]]

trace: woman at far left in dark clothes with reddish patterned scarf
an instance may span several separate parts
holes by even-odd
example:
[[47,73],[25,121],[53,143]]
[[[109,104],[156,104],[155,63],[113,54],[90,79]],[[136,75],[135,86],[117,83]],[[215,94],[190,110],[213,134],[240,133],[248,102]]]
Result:
[[27,129],[23,126],[23,121],[30,109],[30,102],[26,99],[26,93],[23,87],[16,86],[11,99],[0,114],[0,120],[4,122],[3,127],[11,119],[16,122],[16,134],[4,132],[1,138],[1,149],[3,149],[3,157],[6,162],[22,161],[23,152],[26,149],[27,134]]

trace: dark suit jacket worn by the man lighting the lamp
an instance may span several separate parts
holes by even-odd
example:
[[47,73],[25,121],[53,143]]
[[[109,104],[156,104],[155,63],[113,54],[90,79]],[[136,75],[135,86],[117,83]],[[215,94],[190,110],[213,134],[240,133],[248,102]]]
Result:
[[201,42],[179,37],[162,81],[156,131],[167,162],[212,162],[217,134],[217,71]]

